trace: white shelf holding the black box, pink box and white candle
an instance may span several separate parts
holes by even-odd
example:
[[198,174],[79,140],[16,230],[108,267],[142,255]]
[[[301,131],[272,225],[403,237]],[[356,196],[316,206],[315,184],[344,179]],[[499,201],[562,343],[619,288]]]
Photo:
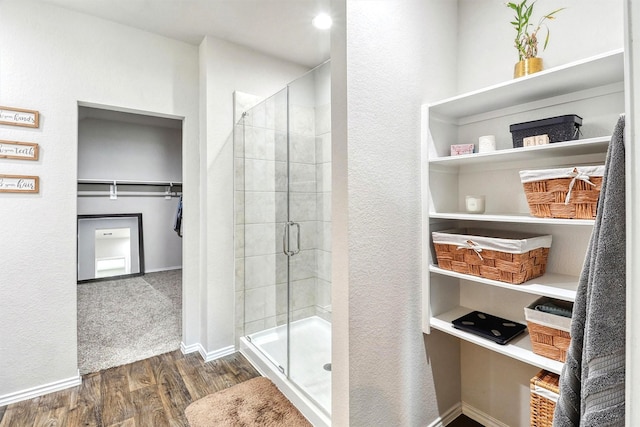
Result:
[[490,153],[435,157],[429,159],[429,164],[442,166],[488,165],[497,162],[515,162],[520,160],[606,153],[609,141],[611,141],[610,135],[574,141],[554,142],[552,144],[538,145],[535,147],[509,148]]

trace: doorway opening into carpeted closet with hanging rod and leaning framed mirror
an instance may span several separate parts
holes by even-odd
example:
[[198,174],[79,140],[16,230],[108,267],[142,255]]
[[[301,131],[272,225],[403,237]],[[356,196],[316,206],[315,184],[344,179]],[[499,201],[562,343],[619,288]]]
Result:
[[81,374],[180,347],[181,195],[182,120],[78,107]]

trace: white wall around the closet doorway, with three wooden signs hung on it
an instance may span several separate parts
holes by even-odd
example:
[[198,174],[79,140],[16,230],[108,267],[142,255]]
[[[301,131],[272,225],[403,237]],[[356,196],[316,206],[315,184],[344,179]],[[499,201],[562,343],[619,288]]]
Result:
[[[39,194],[0,195],[3,222],[11,224],[0,228],[0,401],[6,401],[78,375],[79,101],[185,118],[187,286],[197,279],[197,249],[191,248],[199,234],[198,51],[31,0],[0,2],[0,41],[0,105],[41,113],[38,129],[0,127],[2,139],[41,147],[37,162],[0,159],[2,173],[41,179]],[[183,323],[189,329],[190,319]]]

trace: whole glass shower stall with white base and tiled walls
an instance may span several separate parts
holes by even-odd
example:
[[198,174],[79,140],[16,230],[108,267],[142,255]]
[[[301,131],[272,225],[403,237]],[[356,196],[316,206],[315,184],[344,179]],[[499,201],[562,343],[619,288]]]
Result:
[[262,363],[263,373],[281,388],[290,387],[292,394],[285,394],[297,406],[309,404],[326,419],[331,412],[329,67],[327,62],[311,70],[261,102],[236,93],[234,127],[236,336],[245,356]]

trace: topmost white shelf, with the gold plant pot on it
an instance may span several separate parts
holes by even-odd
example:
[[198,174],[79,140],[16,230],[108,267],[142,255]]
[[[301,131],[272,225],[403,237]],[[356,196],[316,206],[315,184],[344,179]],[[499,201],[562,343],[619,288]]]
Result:
[[449,119],[499,110],[623,81],[623,50],[550,68],[429,105],[431,114]]

